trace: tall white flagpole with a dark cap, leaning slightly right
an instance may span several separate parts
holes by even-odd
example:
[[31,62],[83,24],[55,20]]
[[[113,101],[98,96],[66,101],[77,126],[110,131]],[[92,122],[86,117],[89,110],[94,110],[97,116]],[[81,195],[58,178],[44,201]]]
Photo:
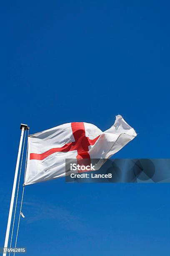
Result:
[[[11,225],[11,219],[12,219],[12,214],[13,214],[13,205],[14,205],[14,198],[15,198],[15,189],[16,189],[16,184],[17,184],[17,177],[18,177],[18,168],[20,164],[20,155],[21,155],[21,148],[23,144],[23,135],[24,131],[28,130],[29,127],[28,125],[21,124],[20,125],[20,130],[21,130],[21,137],[20,137],[20,145],[18,149],[18,157],[17,157],[17,164],[15,168],[15,177],[14,177],[14,183],[13,183],[13,192],[11,196],[11,202],[10,202],[10,211],[9,211],[9,216],[8,216],[8,221],[7,221],[7,231],[6,231],[6,236],[5,236],[5,243],[4,243],[4,248],[7,248],[8,244],[8,239],[9,239],[9,234],[10,234],[10,225]],[[7,252],[3,253],[3,256],[6,256]]]

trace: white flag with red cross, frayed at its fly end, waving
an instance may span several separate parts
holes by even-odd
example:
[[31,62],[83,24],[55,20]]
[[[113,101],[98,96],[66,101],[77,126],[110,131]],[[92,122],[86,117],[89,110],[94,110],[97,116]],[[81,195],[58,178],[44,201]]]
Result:
[[91,123],[74,122],[30,135],[25,185],[64,177],[66,159],[108,159],[136,135],[120,115],[104,132]]

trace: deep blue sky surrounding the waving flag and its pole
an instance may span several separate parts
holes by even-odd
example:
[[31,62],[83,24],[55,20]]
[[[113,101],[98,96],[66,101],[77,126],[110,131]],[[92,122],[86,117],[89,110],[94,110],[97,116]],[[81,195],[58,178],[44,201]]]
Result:
[[[20,123],[104,131],[121,114],[138,137],[116,157],[170,157],[170,3],[4,1],[0,23],[3,246]],[[30,185],[18,246],[28,256],[167,256],[169,198],[169,184]]]

